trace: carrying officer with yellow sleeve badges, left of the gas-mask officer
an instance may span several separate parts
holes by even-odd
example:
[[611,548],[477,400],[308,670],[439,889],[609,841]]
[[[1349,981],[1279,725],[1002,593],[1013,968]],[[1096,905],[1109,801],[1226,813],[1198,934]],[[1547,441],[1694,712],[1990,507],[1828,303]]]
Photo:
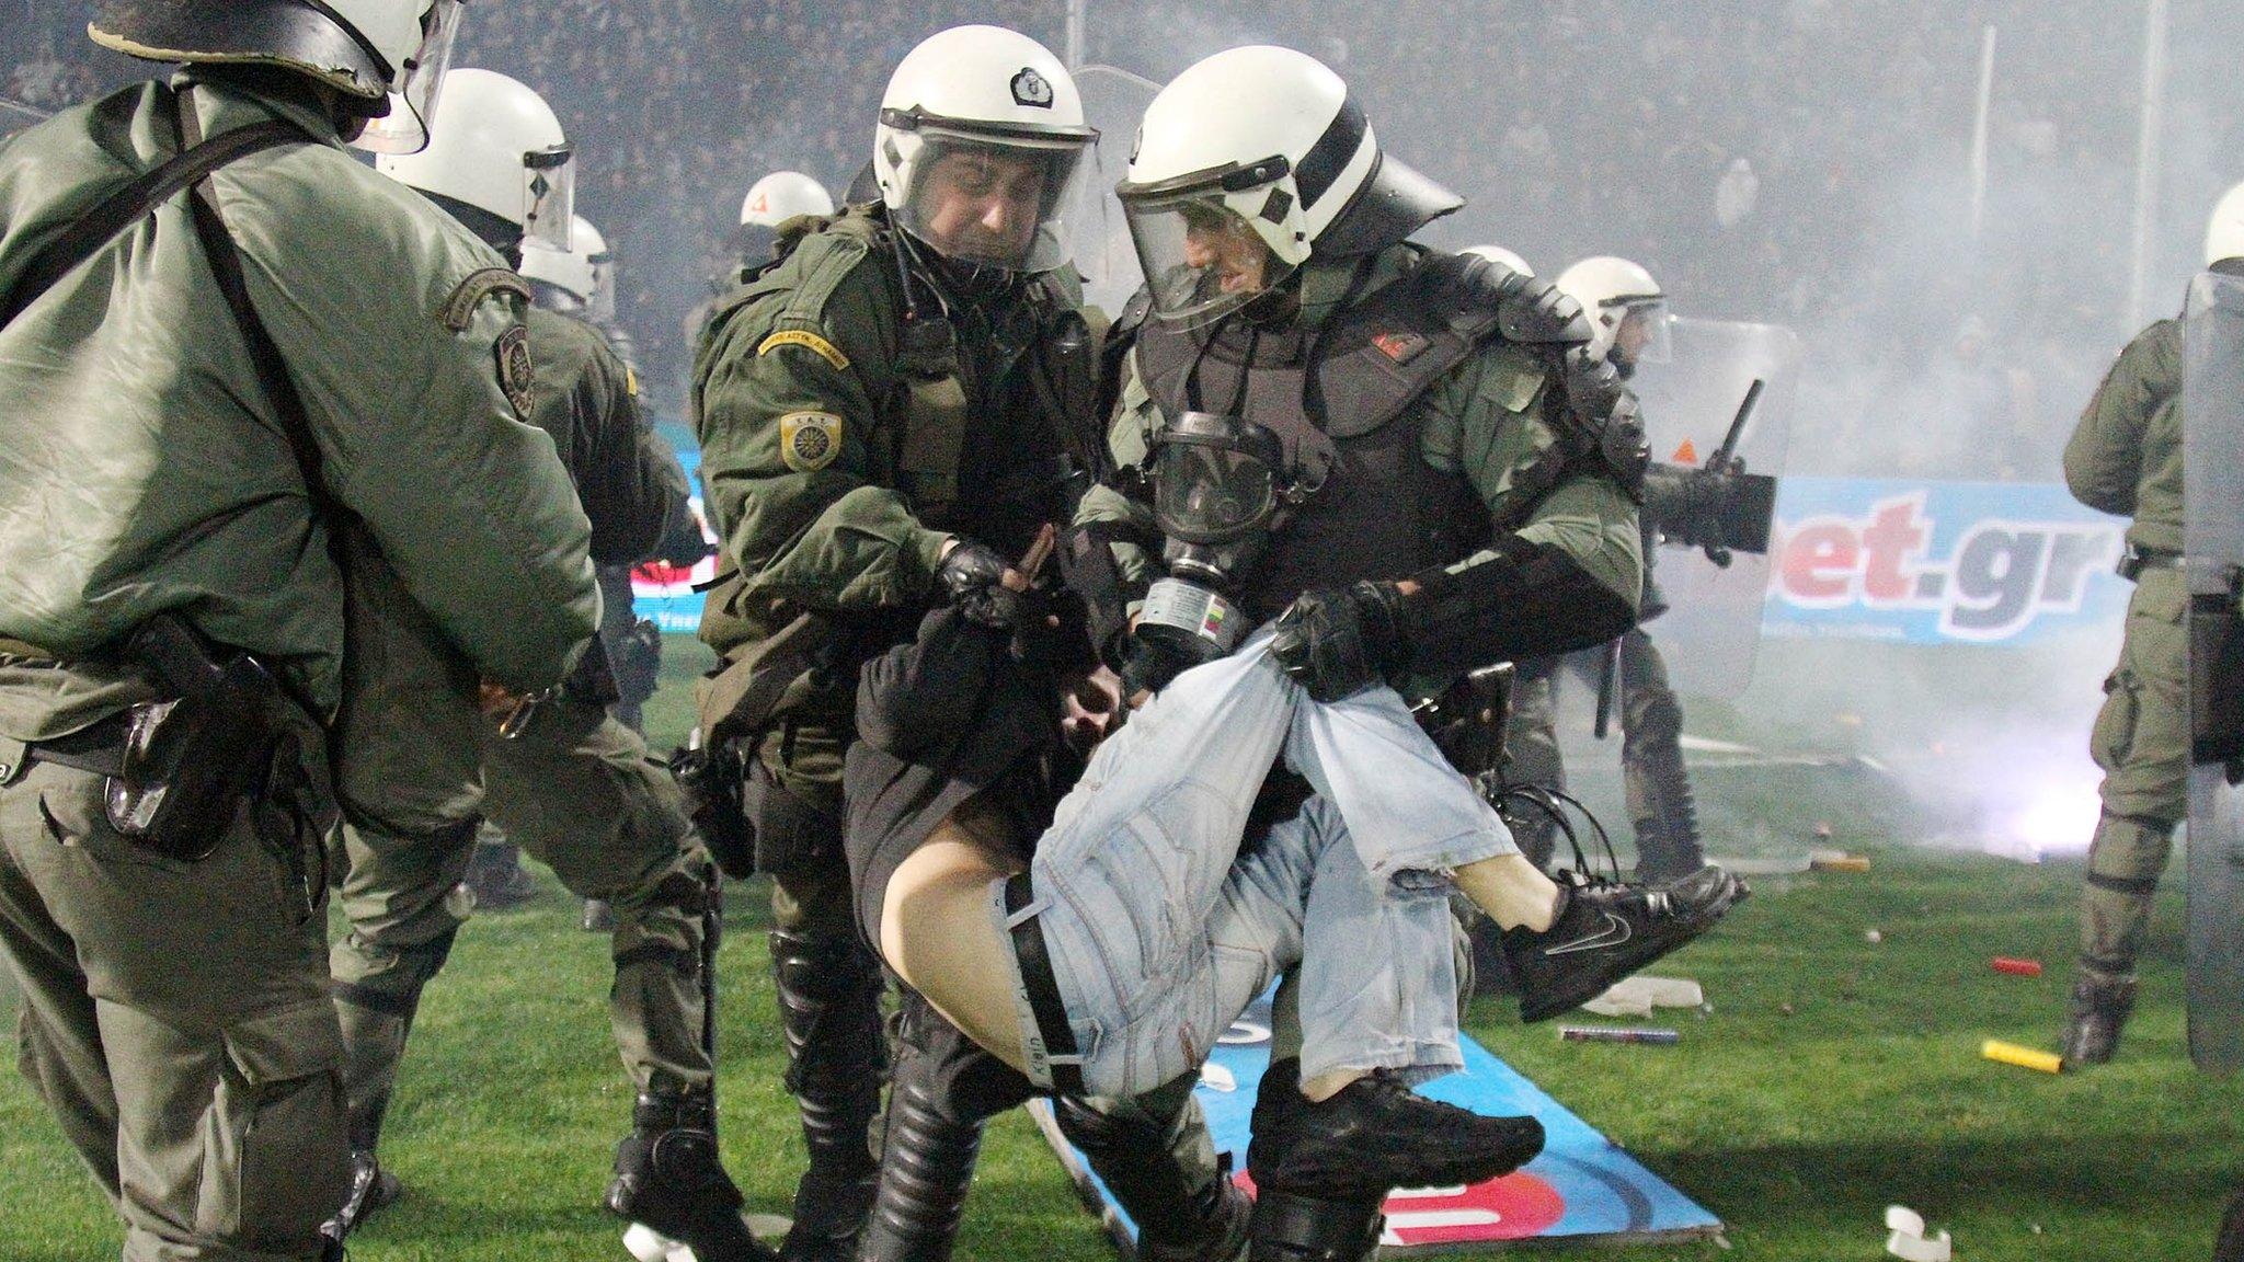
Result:
[[[756,865],[774,876],[772,968],[810,1150],[790,1258],[848,1258],[859,1224],[866,1258],[947,1258],[983,1121],[1028,1094],[907,995],[875,1168],[882,975],[850,898],[839,781],[857,662],[929,606],[985,591],[1039,523],[1068,516],[1066,431],[1088,420],[1095,348],[1059,216],[1093,137],[1034,40],[931,36],[882,97],[877,200],[806,220],[720,301],[698,350],[725,564],[702,638],[727,662],[702,730],[736,750]],[[1189,1087],[1064,1118],[1133,1190],[1149,1246],[1236,1240],[1243,1206]]]

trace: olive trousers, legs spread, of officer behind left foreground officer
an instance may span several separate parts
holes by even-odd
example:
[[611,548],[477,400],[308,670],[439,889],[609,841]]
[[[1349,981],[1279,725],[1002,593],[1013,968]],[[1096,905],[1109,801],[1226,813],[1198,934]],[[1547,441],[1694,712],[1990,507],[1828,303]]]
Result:
[[330,952],[350,1049],[352,1143],[370,1147],[420,990],[469,903],[456,894],[480,811],[577,896],[615,907],[610,1019],[642,1091],[707,1085],[700,849],[669,772],[604,707],[554,698],[516,739],[476,710],[473,671],[426,615],[352,591],[339,721],[341,907]]

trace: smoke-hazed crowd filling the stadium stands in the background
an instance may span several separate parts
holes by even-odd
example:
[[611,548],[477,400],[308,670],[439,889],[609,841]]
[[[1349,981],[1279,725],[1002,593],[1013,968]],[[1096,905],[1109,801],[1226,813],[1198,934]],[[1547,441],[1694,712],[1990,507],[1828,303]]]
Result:
[[[79,31],[88,4],[11,0],[4,94],[43,108],[132,76]],[[999,22],[1066,45],[1057,0],[552,0],[487,4],[462,65],[505,67],[583,150],[579,193],[624,260],[619,317],[669,409],[684,317],[729,260],[747,184],[835,191],[864,159],[882,74],[920,36]],[[1313,0],[1095,7],[1084,61],[1153,81],[1270,40],[1317,54],[1382,135],[1470,198],[1432,238],[1495,240],[1557,272],[1652,267],[1679,314],[1786,323],[1813,371],[1793,469],[2056,481],[2064,433],[2130,326],[2141,29],[2094,0]],[[2148,312],[2179,303],[2192,220],[2233,121],[2190,85],[2240,34],[2172,4],[2163,218]],[[13,13],[11,13],[13,18]],[[1463,25],[1463,29],[1461,29]],[[1997,29],[1988,182],[1970,229],[1981,31]],[[1804,72],[1813,67],[1813,72]],[[2172,222],[2168,222],[2172,220]],[[1613,231],[1607,225],[1625,225]],[[2170,247],[2170,249],[2168,249]],[[2060,265],[2049,265],[2058,260]],[[1970,420],[1972,427],[1939,424]],[[1986,424],[2004,440],[1988,442]],[[1939,433],[1970,431],[1970,440]]]

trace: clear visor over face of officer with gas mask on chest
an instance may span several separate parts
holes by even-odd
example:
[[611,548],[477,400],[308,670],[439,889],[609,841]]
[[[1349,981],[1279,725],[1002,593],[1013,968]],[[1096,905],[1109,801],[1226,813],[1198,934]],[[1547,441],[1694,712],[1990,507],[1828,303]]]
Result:
[[1218,186],[1124,198],[1122,213],[1129,216],[1153,314],[1165,321],[1207,323],[1275,290],[1295,269],[1270,252]]

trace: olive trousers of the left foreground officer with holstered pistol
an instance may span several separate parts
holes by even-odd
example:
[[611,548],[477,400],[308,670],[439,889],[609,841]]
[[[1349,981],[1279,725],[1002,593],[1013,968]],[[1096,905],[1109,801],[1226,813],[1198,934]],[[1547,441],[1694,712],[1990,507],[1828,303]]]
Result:
[[350,1181],[323,907],[247,813],[182,862],[108,826],[99,775],[0,781],[22,1069],[123,1215],[123,1258],[319,1258]]

